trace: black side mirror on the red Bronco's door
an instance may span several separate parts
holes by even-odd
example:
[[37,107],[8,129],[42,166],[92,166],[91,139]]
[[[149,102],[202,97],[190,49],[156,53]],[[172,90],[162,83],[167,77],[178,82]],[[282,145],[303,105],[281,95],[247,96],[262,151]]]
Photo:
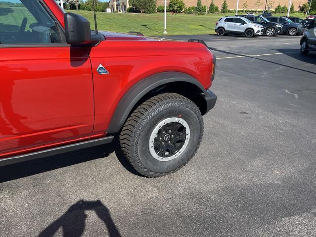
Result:
[[83,16],[65,13],[65,33],[68,44],[91,44],[98,41],[91,40],[90,22]]

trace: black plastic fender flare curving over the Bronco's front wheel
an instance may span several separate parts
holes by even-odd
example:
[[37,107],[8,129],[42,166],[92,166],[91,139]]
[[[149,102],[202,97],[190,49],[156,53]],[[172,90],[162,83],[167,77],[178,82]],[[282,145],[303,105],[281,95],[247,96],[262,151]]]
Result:
[[202,84],[192,76],[181,72],[163,72],[154,74],[136,83],[119,101],[118,106],[111,118],[107,133],[116,133],[124,125],[128,115],[148,92],[171,82],[188,82],[197,86],[201,93],[206,93]]

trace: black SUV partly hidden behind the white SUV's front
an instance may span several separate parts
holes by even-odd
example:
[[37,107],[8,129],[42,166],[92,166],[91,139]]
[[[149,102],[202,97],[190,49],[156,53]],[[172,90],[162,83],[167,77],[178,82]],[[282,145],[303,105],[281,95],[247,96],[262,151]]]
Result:
[[244,18],[247,18],[249,21],[262,25],[263,26],[263,34],[267,36],[274,36],[275,34],[281,34],[283,31],[283,25],[278,23],[273,23],[268,21],[263,16],[249,16],[249,15],[237,15]]

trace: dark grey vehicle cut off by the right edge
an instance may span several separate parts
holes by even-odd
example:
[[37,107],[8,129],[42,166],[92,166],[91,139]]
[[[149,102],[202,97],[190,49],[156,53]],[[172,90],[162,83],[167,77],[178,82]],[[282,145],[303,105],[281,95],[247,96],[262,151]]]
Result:
[[316,17],[306,27],[300,44],[302,54],[308,54],[309,51],[316,51]]

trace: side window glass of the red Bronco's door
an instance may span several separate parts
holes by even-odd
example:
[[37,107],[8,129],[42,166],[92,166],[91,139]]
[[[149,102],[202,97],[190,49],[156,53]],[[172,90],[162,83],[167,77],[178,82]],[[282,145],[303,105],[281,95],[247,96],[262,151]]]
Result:
[[0,0],[0,42],[51,44],[61,40],[55,21],[38,0]]

